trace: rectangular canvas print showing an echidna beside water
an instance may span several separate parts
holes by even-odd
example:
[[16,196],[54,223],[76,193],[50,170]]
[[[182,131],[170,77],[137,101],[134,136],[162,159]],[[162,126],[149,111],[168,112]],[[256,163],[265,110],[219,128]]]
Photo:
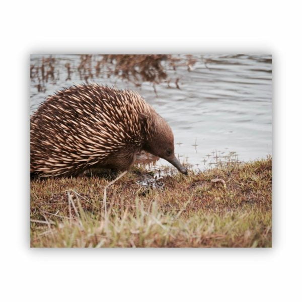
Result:
[[31,55],[31,247],[271,247],[271,189],[271,55]]

